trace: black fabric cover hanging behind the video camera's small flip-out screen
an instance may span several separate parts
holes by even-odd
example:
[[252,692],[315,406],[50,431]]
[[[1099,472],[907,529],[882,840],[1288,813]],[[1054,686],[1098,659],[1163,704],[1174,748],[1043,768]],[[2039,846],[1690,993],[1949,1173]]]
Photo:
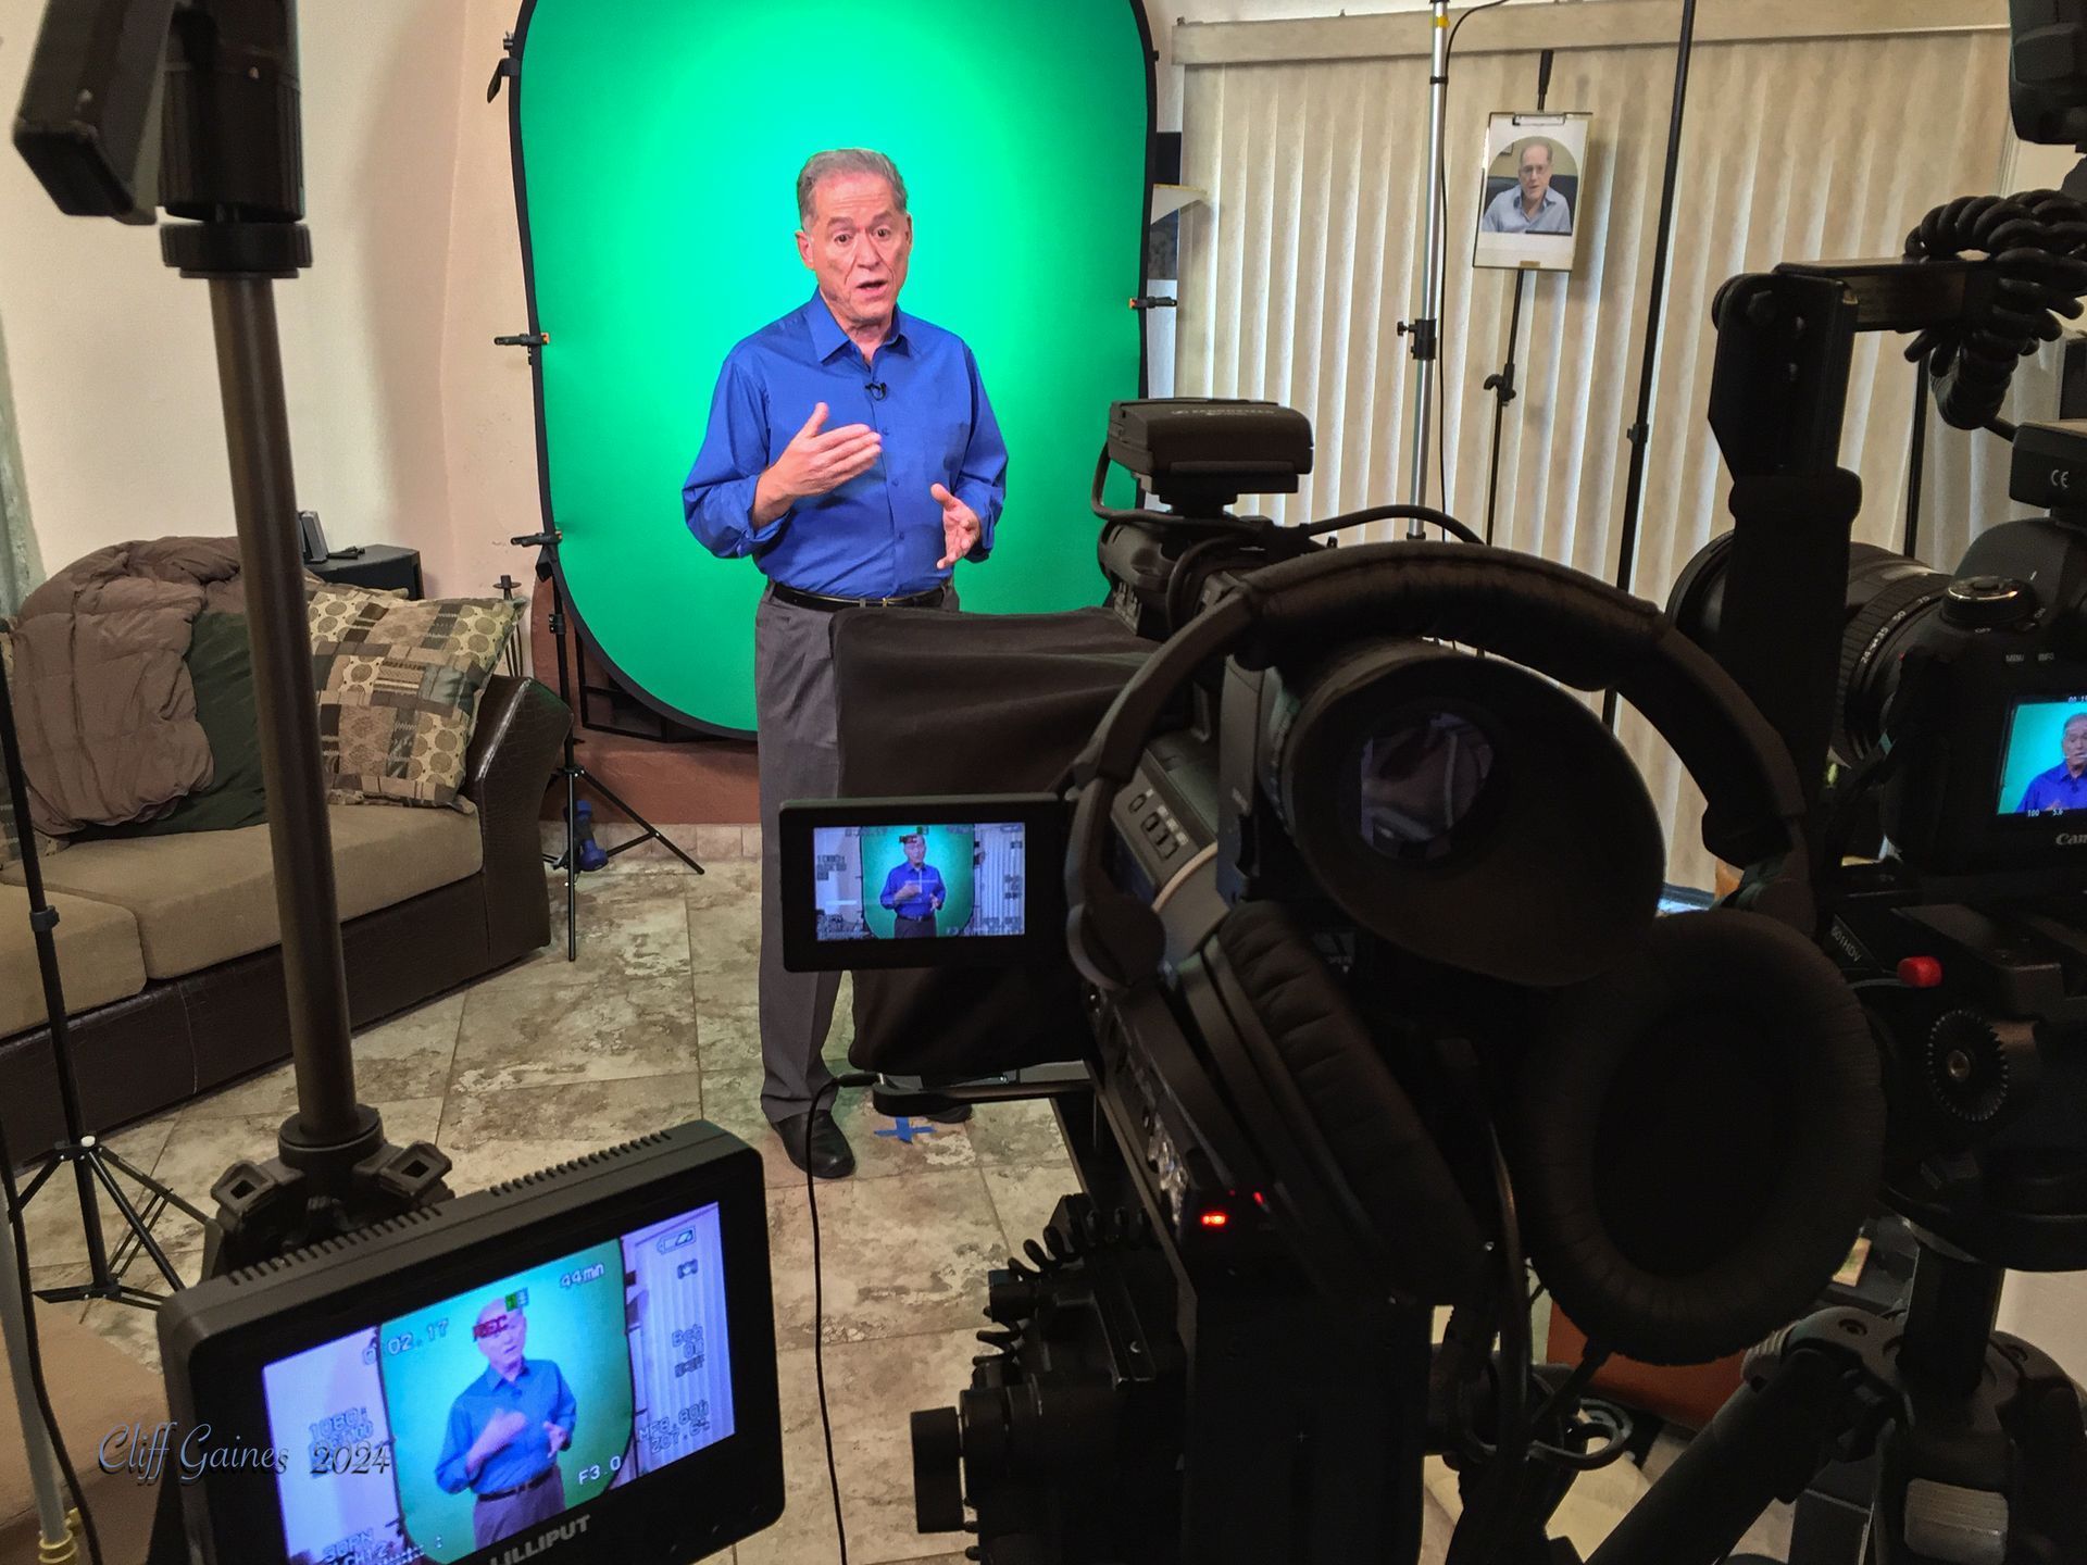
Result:
[[[833,618],[841,797],[1052,789],[1152,651],[1106,609],[845,609]],[[860,1070],[989,1075],[1077,1060],[1087,1041],[1071,960],[856,972]]]

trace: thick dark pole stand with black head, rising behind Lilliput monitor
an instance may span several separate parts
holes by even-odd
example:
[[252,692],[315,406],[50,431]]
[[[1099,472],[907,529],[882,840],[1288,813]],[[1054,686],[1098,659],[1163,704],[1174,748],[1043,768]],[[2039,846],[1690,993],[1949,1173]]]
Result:
[[449,1194],[449,1158],[392,1146],[355,1095],[275,332],[275,280],[311,265],[298,104],[292,0],[52,0],[15,119],[15,146],[61,211],[192,219],[161,227],[161,257],[211,290],[296,1075],[275,1156],[236,1162],[211,1191],[213,1277]]

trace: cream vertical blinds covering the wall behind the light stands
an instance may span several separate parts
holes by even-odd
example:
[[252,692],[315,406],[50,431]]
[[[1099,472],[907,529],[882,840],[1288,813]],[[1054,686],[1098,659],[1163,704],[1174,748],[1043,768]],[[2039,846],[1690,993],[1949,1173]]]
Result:
[[[1480,17],[1480,29],[1507,25]],[[1448,501],[1486,509],[1492,392],[1515,273],[1469,265],[1482,129],[1534,109],[1536,52],[1463,50],[1448,102],[1448,267],[1440,449]],[[1682,134],[1665,334],[1655,371],[1636,593],[1665,599],[1680,568],[1728,526],[1728,478],[1705,424],[1726,278],[1784,259],[1897,255],[1935,204],[1991,190],[2008,117],[2004,31],[1703,44]],[[1638,369],[1674,50],[1584,48],[1555,58],[1549,111],[1594,115],[1572,275],[1528,286],[1519,396],[1501,440],[1494,540],[1615,580],[1626,428]],[[1425,221],[1428,61],[1196,65],[1183,92],[1183,184],[1210,192],[1181,223],[1175,384],[1181,394],[1267,396],[1304,411],[1317,465],[1277,520],[1407,499],[1413,369],[1396,323],[1417,313]],[[1903,532],[1914,369],[1901,340],[1857,338],[1843,465],[1864,480],[1857,538]],[[1937,436],[1939,440],[1943,436]],[[1434,444],[1432,444],[1434,449]],[[1949,447],[1930,467],[1958,511],[1991,492],[1995,463]],[[1440,457],[1430,457],[1440,476]],[[1430,478],[1430,499],[1440,482]],[[1402,536],[1405,524],[1361,528]],[[1928,532],[1935,538],[1935,530]],[[1949,538],[1968,536],[1951,520]],[[1951,547],[1933,545],[1930,559]],[[1947,561],[1953,563],[1953,555]],[[1634,714],[1622,739],[1668,822],[1670,874],[1709,885],[1701,795]]]

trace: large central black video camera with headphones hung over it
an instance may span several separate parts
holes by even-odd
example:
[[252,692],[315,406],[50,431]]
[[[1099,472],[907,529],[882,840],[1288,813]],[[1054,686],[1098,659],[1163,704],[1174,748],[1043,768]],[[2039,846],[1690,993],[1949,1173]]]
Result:
[[[1227,469],[1173,472],[1219,424]],[[1185,618],[1066,785],[781,818],[795,966],[993,947],[1087,993],[1062,1045],[1092,1106],[1058,1093],[1083,1194],[995,1273],[960,1411],[916,1417],[922,1527],[968,1498],[993,1561],[1402,1559],[1419,1454],[1450,1450],[1494,1496],[1473,1527],[1540,1530],[1622,1440],[1584,1379],[1530,1379],[1526,1256],[1605,1350],[1682,1363],[1801,1315],[1868,1210],[1876,1056],[1809,943],[1799,780],[1649,603],[1484,547],[1319,543],[1352,517],[1273,549],[1215,517],[1302,469],[1294,415],[1119,405],[1110,457],[1198,492],[1104,515],[1125,618]],[[1751,908],[1655,916],[1653,803],[1561,689],[1611,684],[1749,843]],[[843,772],[879,718],[843,680]],[[931,939],[877,912],[908,881]]]

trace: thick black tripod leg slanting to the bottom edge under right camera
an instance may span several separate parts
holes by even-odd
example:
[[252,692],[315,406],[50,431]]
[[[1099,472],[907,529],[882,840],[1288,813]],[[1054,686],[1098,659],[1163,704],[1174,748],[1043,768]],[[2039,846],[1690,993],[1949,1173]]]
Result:
[[1797,1350],[1768,1383],[1741,1388],[1588,1565],[1718,1565],[1772,1500],[1818,1473],[1845,1381],[1839,1356]]

